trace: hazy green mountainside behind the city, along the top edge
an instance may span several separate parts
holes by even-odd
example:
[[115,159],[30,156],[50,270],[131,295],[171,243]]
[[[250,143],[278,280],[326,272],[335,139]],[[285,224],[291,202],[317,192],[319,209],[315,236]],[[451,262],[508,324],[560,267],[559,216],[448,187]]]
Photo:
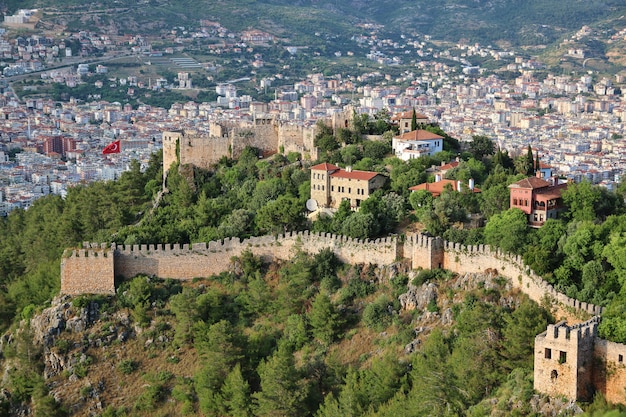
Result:
[[[566,7],[564,7],[566,5]],[[384,25],[391,33],[421,33],[436,39],[511,45],[549,45],[582,25],[594,25],[626,13],[621,0],[4,0],[10,11],[23,7],[72,12],[120,10],[111,14],[127,30],[153,30],[199,19],[217,20],[230,30],[256,27],[294,40],[350,35],[355,23]],[[123,28],[122,28],[123,30]]]

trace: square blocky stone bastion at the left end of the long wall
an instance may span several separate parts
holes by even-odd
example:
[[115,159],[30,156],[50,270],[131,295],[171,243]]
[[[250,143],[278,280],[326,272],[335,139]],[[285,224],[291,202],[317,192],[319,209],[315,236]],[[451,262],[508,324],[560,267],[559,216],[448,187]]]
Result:
[[102,248],[67,250],[61,258],[61,294],[115,294],[113,251]]

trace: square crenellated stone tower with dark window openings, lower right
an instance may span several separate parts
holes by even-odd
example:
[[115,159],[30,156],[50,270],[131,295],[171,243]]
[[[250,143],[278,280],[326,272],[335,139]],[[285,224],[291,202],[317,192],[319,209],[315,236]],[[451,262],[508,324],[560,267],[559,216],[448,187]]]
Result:
[[597,327],[597,317],[574,326],[560,322],[535,337],[535,390],[553,397],[591,399]]

